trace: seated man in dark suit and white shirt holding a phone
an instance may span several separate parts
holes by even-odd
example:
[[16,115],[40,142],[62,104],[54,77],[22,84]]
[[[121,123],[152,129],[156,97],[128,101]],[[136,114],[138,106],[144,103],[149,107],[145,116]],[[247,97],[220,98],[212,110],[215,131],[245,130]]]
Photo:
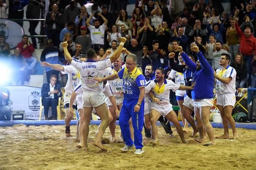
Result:
[[49,107],[52,107],[52,120],[57,119],[57,106],[59,102],[59,97],[62,97],[62,92],[60,90],[60,85],[56,84],[57,76],[55,74],[50,76],[50,84],[45,83],[42,86],[42,105],[45,110],[45,120],[48,120]]

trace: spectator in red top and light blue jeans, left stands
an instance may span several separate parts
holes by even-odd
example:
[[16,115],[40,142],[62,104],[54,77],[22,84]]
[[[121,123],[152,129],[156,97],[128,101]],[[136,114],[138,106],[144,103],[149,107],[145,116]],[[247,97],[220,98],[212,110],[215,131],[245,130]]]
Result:
[[33,44],[30,44],[29,36],[23,35],[22,42],[20,42],[17,47],[20,49],[21,55],[25,58],[27,68],[31,72],[36,67],[37,60],[32,56],[32,52],[35,51],[35,48]]

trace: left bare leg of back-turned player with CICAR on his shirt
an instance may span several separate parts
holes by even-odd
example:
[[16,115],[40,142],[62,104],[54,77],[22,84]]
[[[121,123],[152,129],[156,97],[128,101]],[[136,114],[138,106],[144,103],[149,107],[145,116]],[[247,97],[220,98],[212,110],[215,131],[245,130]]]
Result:
[[88,150],[88,135],[89,135],[89,123],[91,121],[92,107],[83,107],[83,118],[85,122],[83,123],[82,133],[83,133],[83,150]]

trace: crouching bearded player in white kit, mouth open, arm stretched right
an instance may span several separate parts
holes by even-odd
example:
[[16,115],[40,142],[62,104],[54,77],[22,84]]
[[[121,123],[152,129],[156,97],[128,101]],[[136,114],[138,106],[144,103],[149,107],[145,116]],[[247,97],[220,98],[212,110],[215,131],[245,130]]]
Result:
[[189,90],[193,86],[181,86],[173,81],[165,79],[165,71],[163,68],[157,68],[155,71],[155,79],[145,87],[145,94],[149,93],[152,103],[150,106],[150,122],[152,134],[155,138],[153,145],[158,145],[157,126],[156,122],[160,116],[164,116],[169,121],[173,122],[181,137],[183,143],[188,143],[184,137],[183,130],[180,126],[176,113],[173,111],[173,106],[170,103],[170,90]]

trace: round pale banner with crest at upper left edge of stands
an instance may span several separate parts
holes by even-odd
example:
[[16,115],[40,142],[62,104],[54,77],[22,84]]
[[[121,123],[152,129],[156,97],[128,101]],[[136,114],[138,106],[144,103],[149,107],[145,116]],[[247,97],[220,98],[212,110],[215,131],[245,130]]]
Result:
[[18,43],[22,41],[24,30],[18,23],[0,18],[0,35],[4,35],[6,43],[12,49],[17,47]]

